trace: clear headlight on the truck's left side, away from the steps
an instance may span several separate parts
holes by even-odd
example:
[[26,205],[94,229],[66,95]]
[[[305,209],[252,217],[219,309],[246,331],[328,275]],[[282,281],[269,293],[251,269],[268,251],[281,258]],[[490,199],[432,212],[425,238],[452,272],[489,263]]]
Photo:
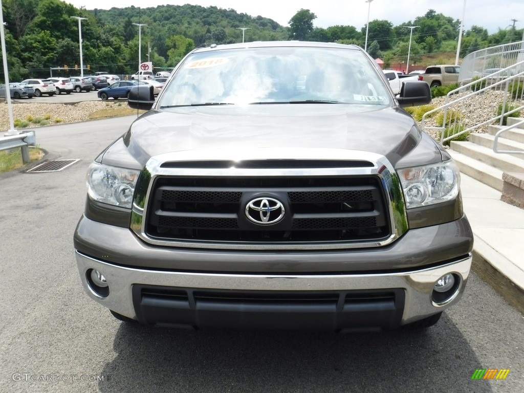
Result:
[[140,171],[93,162],[88,170],[88,194],[95,201],[131,208]]

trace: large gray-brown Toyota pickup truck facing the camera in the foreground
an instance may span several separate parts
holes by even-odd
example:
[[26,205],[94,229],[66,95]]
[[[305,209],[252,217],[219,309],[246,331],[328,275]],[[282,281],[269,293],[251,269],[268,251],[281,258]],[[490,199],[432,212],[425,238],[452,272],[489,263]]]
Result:
[[190,328],[431,326],[461,298],[473,234],[459,170],[357,46],[189,53],[91,164],[74,247],[123,321]]

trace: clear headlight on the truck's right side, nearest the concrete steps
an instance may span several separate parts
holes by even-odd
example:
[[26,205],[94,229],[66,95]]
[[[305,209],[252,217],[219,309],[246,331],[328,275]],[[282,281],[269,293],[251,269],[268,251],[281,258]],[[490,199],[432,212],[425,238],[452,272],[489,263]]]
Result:
[[452,160],[397,173],[408,209],[449,201],[459,193],[460,172]]

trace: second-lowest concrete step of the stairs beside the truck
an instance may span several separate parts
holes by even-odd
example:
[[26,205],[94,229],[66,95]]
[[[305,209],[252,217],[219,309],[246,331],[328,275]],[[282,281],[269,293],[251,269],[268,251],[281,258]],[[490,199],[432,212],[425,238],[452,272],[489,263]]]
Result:
[[511,157],[508,154],[497,154],[493,150],[476,145],[473,142],[452,141],[450,149],[504,172],[524,173],[523,160]]

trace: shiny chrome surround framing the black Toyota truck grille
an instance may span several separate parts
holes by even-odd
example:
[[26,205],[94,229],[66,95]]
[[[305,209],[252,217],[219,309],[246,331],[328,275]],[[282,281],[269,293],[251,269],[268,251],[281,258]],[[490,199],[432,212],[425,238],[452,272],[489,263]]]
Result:
[[[232,157],[235,157],[232,160]],[[235,167],[243,161],[267,162],[267,168]],[[325,167],[323,162],[339,160],[347,162],[346,167]],[[206,167],[206,161],[210,167]],[[229,166],[215,166],[216,162],[229,162]],[[306,167],[288,165],[289,162],[307,162]],[[318,167],[311,163],[319,162]],[[165,165],[166,163],[181,165]],[[195,163],[192,168],[191,163]],[[231,166],[231,162],[233,165]],[[279,167],[279,162],[282,162]],[[354,165],[366,162],[366,165]],[[213,167],[212,167],[213,166]],[[240,167],[240,168],[239,168]],[[189,176],[188,176],[189,174]],[[184,239],[158,239],[146,233],[147,219],[145,206],[153,198],[152,188],[159,177],[182,178],[282,178],[282,177],[375,177],[381,183],[385,197],[385,214],[390,224],[390,235],[380,241],[320,241],[320,242],[228,242],[191,241]],[[238,250],[328,250],[379,247],[394,242],[408,230],[407,215],[400,182],[394,168],[386,157],[374,153],[344,149],[253,149],[248,152],[229,149],[181,151],[151,157],[140,174],[135,189],[131,220],[132,231],[144,242],[152,245],[184,248],[238,249]]]

